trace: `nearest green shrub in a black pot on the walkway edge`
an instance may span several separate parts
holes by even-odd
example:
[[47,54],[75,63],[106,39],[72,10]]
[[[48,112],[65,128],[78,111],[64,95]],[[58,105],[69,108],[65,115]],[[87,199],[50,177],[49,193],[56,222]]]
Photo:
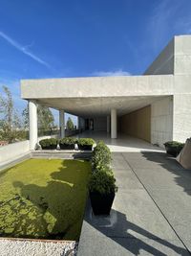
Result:
[[89,194],[95,215],[110,214],[116,192],[116,179],[111,172],[102,170],[92,174]]

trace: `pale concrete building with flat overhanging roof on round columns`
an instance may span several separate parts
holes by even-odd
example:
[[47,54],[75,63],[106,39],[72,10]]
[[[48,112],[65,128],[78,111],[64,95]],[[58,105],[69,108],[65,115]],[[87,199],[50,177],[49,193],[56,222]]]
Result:
[[[141,57],[140,57],[141,59]],[[30,145],[37,143],[36,104],[78,116],[82,129],[124,133],[162,147],[191,136],[191,35],[175,36],[142,76],[21,81],[29,101]]]

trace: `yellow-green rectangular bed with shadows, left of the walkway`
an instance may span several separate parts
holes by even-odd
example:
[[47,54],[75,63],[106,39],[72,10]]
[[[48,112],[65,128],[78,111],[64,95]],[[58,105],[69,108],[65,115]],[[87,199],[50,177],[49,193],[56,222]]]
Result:
[[78,240],[91,166],[30,159],[0,175],[0,236]]

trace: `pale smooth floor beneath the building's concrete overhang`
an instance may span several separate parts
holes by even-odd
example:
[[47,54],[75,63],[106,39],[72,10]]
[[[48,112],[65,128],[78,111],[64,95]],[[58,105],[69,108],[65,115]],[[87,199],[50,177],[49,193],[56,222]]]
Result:
[[78,138],[93,138],[96,141],[103,140],[105,144],[109,147],[110,151],[163,151],[157,146],[153,146],[152,144],[132,137],[126,134],[117,134],[117,139],[111,139],[110,133],[106,131],[95,131],[95,130],[87,130],[82,133],[77,134],[75,137]]

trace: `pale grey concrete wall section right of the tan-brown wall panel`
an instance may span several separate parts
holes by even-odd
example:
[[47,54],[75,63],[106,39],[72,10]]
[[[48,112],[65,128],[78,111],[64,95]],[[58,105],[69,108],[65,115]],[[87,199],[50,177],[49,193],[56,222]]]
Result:
[[173,97],[169,96],[151,105],[151,143],[164,147],[173,139]]

